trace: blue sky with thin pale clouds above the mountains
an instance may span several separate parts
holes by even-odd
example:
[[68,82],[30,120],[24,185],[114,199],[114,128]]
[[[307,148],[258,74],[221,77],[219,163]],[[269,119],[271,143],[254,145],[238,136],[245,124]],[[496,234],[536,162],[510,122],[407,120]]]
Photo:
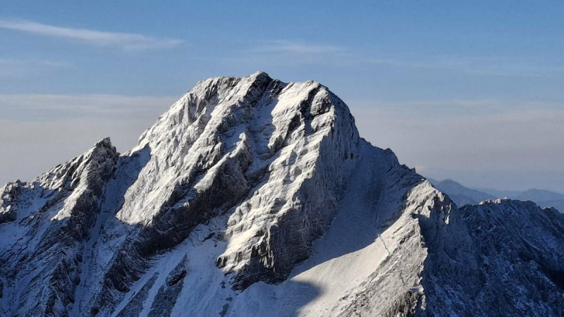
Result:
[[328,86],[424,175],[564,192],[563,21],[563,1],[1,1],[0,182],[127,151],[198,80],[264,70]]

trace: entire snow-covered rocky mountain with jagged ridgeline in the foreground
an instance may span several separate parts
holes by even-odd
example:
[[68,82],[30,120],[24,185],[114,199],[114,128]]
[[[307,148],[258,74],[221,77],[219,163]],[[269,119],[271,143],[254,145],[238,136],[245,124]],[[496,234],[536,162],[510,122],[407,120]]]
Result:
[[131,151],[0,194],[0,316],[564,311],[564,215],[458,209],[317,82],[204,80]]

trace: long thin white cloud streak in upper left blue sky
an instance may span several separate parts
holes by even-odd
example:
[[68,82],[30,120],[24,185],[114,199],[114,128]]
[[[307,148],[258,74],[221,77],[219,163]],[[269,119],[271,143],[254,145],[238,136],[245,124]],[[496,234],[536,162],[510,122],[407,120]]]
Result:
[[59,27],[27,20],[0,20],[0,28],[47,37],[59,37],[96,46],[111,46],[131,50],[169,49],[183,43],[181,39],[166,39],[135,33],[102,32],[80,28]]

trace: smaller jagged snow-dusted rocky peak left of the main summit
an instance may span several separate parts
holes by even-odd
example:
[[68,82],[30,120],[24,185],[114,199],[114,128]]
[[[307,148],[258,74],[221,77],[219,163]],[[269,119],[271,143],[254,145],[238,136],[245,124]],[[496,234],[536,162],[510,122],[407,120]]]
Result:
[[[0,228],[6,315],[66,316],[75,302],[85,240],[118,160],[109,139],[33,182],[8,184]],[[18,308],[23,308],[21,311]]]

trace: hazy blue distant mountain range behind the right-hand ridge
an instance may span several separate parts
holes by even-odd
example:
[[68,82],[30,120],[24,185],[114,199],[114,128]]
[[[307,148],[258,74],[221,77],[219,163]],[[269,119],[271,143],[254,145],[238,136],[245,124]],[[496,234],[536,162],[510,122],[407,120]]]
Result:
[[454,180],[433,180],[427,178],[437,189],[448,194],[458,206],[475,205],[486,199],[511,198],[517,200],[530,200],[535,204],[544,207],[554,207],[564,213],[564,194],[551,192],[545,189],[527,189],[525,192],[486,189],[486,188],[469,188],[461,185]]

